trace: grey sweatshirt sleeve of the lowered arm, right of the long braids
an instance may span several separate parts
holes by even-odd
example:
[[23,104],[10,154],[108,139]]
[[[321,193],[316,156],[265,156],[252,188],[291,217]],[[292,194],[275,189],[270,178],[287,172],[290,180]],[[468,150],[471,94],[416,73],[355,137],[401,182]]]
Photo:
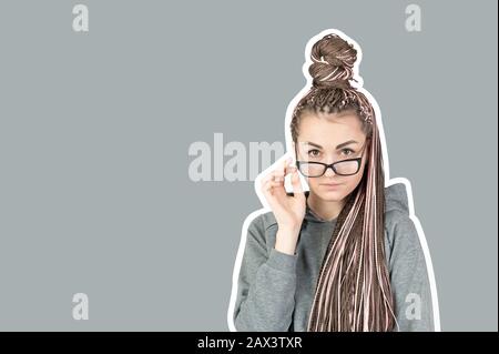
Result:
[[432,332],[434,312],[428,272],[419,236],[408,215],[394,226],[390,284],[400,332]]

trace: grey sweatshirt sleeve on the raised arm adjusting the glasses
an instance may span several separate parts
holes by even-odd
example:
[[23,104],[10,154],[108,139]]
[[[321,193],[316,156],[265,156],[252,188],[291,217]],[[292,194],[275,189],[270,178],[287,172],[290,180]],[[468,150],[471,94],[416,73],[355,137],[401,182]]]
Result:
[[[237,331],[287,332],[296,290],[296,253],[282,253],[266,245],[262,218],[247,229],[237,281],[234,325]],[[271,250],[269,252],[267,250]]]

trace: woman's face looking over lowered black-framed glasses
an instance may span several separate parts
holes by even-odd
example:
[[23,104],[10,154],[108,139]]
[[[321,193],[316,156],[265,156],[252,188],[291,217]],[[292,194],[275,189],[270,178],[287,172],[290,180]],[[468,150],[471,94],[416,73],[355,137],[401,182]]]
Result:
[[[342,201],[360,182],[366,164],[366,134],[353,111],[340,113],[304,112],[299,122],[296,160],[333,163],[363,156],[356,174],[338,175],[333,169],[317,178],[306,178],[310,193],[324,201]],[[329,185],[328,185],[329,184]],[[332,186],[330,184],[337,184]]]

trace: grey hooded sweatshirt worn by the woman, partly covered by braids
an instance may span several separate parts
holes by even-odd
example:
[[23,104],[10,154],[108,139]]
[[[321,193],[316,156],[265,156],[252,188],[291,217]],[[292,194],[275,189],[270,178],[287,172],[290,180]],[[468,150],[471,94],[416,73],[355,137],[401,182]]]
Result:
[[[308,192],[306,193],[308,196]],[[434,331],[431,292],[425,256],[403,183],[385,188],[385,250],[395,296],[394,331]],[[274,249],[277,223],[272,212],[256,216],[237,281],[237,331],[304,332],[316,282],[336,219],[322,220],[306,206],[294,255]]]

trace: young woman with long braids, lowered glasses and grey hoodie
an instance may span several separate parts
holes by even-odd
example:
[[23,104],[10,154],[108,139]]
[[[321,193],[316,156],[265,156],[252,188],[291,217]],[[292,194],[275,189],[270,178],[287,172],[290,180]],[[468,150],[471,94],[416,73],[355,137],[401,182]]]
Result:
[[350,84],[357,51],[327,34],[310,57],[313,87],[291,121],[296,166],[285,160],[262,180],[272,211],[247,229],[235,328],[434,331],[405,185],[385,186],[375,111]]

